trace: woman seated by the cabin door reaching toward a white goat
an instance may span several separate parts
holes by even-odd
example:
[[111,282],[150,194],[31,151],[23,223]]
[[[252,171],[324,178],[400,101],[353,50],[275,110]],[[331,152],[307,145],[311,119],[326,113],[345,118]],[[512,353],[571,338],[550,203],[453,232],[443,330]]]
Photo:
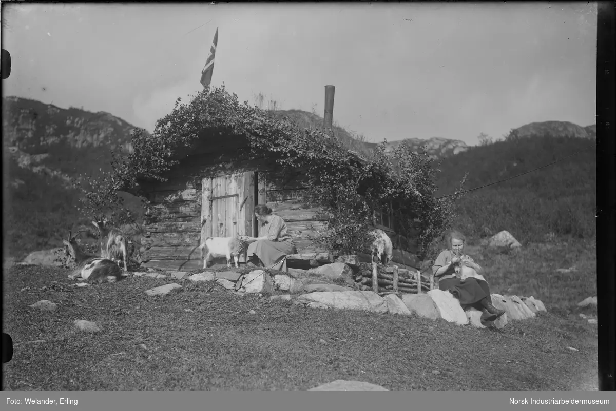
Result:
[[240,237],[242,241],[250,243],[246,257],[254,265],[286,271],[286,260],[280,260],[295,253],[295,244],[286,232],[285,220],[272,214],[272,209],[262,204],[254,207],[254,215],[259,223],[265,223],[265,235]]

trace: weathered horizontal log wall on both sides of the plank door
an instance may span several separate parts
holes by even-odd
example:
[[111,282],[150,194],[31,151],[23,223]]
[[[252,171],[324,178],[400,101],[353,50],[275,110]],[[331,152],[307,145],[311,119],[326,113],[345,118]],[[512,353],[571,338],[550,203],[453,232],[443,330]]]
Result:
[[[144,218],[142,261],[144,267],[193,270],[203,266],[199,244],[203,178],[221,177],[251,170],[275,169],[271,160],[232,161],[220,156],[190,156],[168,175],[168,181],[144,185],[150,204]],[[259,174],[261,175],[261,174]],[[323,238],[328,215],[306,204],[306,187],[300,174],[275,175],[261,181],[254,204],[265,202],[282,217],[293,237],[298,253],[327,252],[324,244],[312,242]],[[256,221],[255,221],[256,223]],[[395,233],[387,229],[398,249]],[[261,229],[256,233],[261,234]],[[407,247],[403,247],[407,248]],[[411,253],[415,254],[412,250]],[[409,257],[405,258],[408,261]]]

